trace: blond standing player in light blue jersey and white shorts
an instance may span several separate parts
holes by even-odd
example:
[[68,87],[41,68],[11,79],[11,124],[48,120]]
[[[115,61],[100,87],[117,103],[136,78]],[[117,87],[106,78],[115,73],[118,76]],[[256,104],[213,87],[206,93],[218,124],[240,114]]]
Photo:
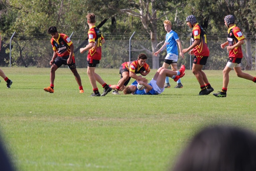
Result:
[[[173,71],[178,71],[177,68],[177,61],[178,61],[178,47],[180,50],[180,56],[184,58],[184,54],[182,52],[182,46],[180,39],[178,37],[178,34],[172,30],[172,22],[169,20],[164,20],[164,28],[167,32],[165,36],[165,42],[164,45],[154,53],[155,56],[157,56],[161,51],[163,51],[165,48],[167,50],[167,55],[164,60],[163,68],[168,68],[170,65],[172,67]],[[174,88],[182,88],[183,85],[181,84],[181,81],[177,81],[177,85]],[[169,77],[166,77],[164,87],[165,88],[170,88],[170,83],[169,83]]]

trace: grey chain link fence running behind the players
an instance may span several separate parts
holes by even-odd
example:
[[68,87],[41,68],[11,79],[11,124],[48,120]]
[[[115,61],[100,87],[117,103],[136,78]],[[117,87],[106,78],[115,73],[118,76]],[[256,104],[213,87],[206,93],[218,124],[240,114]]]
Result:
[[[102,60],[100,61],[98,68],[119,68],[123,62],[129,61],[130,37],[115,37],[112,35],[104,35],[104,37],[106,39],[106,43],[102,46]],[[180,39],[182,42],[182,48],[188,48],[190,46],[190,36]],[[88,52],[80,54],[80,48],[85,47],[88,44],[88,41],[85,38],[81,39],[75,36],[72,36],[71,40],[74,44],[76,67],[87,68],[86,56]],[[223,70],[228,61],[228,52],[226,51],[226,48],[222,49],[220,44],[226,42],[226,37],[207,36],[207,41],[210,56],[203,69]],[[163,43],[164,41],[162,41],[162,44]],[[162,44],[159,44],[158,49]],[[36,38],[16,38],[14,36],[11,47],[12,51],[10,58],[10,40],[4,38],[2,40],[0,51],[0,66],[50,68],[49,62],[52,59],[53,51],[49,36]],[[255,48],[255,38],[247,38],[245,44],[242,45],[244,54],[244,58],[241,63],[242,70],[256,70]],[[155,57],[153,56],[150,38],[141,38],[140,34],[136,33],[131,39],[131,60],[136,60],[140,53],[145,53],[148,56],[147,63],[152,68],[153,58]],[[162,66],[165,56],[166,51],[162,51],[157,57],[159,58],[159,66]],[[184,64],[186,68],[191,68],[192,58],[193,56],[185,54],[184,60],[182,58],[178,59],[178,66]]]

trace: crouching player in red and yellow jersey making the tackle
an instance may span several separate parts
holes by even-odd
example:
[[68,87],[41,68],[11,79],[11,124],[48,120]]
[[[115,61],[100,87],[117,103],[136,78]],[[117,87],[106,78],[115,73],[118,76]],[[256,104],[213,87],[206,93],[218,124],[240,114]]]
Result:
[[146,78],[142,78],[141,76],[136,76],[136,74],[141,74],[142,76],[148,75],[150,72],[150,67],[146,63],[147,60],[146,54],[139,54],[138,59],[132,62],[124,62],[120,66],[121,78],[117,85],[110,85],[112,89],[115,89],[112,94],[118,95],[118,91],[122,91],[126,85],[130,82],[130,79],[133,78],[135,80],[141,80],[142,82],[148,82]]

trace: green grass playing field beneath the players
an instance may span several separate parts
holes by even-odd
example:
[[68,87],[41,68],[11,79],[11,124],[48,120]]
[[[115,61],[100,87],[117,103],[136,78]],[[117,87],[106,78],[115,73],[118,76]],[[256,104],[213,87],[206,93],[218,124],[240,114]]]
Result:
[[[182,89],[174,89],[170,80],[171,88],[160,95],[89,97],[86,69],[78,69],[83,94],[68,68],[56,71],[54,93],[43,90],[50,84],[50,68],[1,69],[13,84],[6,89],[0,78],[0,130],[21,171],[166,171],[206,125],[256,131],[256,84],[234,71],[226,98],[198,96],[190,70]],[[222,71],[205,72],[214,92],[220,91]],[[117,69],[96,68],[96,73],[107,84],[120,78]]]

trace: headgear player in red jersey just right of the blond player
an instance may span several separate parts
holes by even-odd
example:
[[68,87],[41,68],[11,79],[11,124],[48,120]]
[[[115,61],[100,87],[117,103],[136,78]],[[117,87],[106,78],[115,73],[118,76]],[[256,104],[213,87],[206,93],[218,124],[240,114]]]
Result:
[[188,54],[194,55],[192,72],[196,76],[198,83],[200,84],[201,91],[199,95],[208,95],[214,89],[208,82],[206,74],[202,71],[203,66],[206,64],[210,51],[207,46],[206,34],[202,26],[196,21],[196,17],[190,15],[186,18],[187,25],[192,29],[192,45],[187,49],[183,49],[185,54],[189,50]]

